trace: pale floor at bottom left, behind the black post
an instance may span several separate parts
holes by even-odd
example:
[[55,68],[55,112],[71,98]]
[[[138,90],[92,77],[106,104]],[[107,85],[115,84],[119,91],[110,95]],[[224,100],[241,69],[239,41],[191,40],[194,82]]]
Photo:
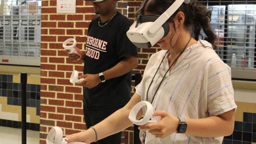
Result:
[[[0,127],[0,144],[22,144],[22,129]],[[39,131],[27,130],[27,144],[39,143]]]

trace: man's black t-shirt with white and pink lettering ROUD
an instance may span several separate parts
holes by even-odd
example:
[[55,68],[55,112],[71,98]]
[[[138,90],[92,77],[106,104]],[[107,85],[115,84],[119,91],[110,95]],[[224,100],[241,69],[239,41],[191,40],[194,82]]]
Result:
[[[126,36],[127,30],[132,25],[129,19],[117,13],[103,27],[98,25],[98,21],[99,17],[93,19],[88,28],[84,74],[99,74],[115,66],[127,55],[137,57],[137,47]],[[130,72],[106,80],[91,89],[84,87],[85,104],[92,108],[125,105],[131,99],[131,79]]]

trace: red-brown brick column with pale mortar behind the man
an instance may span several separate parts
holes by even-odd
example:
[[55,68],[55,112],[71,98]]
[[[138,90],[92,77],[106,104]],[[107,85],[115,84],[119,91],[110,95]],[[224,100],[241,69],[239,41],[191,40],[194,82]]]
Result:
[[[126,6],[129,5],[128,16],[134,21],[134,13],[140,4],[141,1],[119,1],[117,7],[127,15]],[[96,15],[91,3],[82,0],[76,1],[75,14],[56,13],[55,0],[42,0],[41,12],[40,143],[46,143],[48,131],[54,126],[61,127],[64,135],[86,129],[82,87],[69,82],[72,71],[82,71],[83,65],[68,60],[62,42],[75,38],[77,47],[82,49],[89,23]],[[156,51],[138,49],[139,66],[134,73],[143,73],[148,58]],[[133,143],[133,127],[123,132],[122,142]]]

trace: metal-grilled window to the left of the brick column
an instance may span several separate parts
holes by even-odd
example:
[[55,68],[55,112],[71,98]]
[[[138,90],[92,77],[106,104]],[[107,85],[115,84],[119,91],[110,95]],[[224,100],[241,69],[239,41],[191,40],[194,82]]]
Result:
[[0,1],[0,64],[40,65],[41,1]]

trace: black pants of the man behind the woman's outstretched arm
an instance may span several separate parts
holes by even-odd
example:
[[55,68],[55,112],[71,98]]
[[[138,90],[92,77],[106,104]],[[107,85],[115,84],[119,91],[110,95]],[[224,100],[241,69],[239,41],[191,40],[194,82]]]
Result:
[[[93,109],[88,106],[83,106],[84,121],[86,121],[87,129],[89,129],[91,126],[98,124],[103,119],[105,119],[106,117],[108,117],[109,115],[111,115],[116,110],[122,107],[123,106],[113,107],[113,108],[104,108],[104,109]],[[122,136],[122,132],[119,132],[98,140],[97,144],[120,144],[121,136]]]

